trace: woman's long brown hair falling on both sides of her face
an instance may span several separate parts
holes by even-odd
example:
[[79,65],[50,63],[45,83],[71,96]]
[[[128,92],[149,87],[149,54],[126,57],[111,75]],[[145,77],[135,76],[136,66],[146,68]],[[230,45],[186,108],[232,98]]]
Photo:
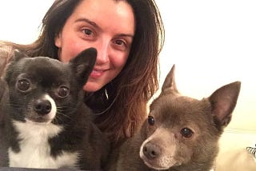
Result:
[[[15,46],[32,57],[58,59],[54,38],[79,2],[81,0],[56,0],[42,20],[42,31],[38,39],[30,45]],[[110,101],[107,104],[110,107],[96,117],[95,123],[110,135],[114,143],[133,136],[146,117],[146,103],[158,89],[158,54],[164,42],[162,18],[154,0],[126,2],[132,6],[136,20],[134,40],[126,66],[117,78],[90,98],[97,99],[102,96],[104,89],[108,89]],[[92,100],[87,103],[94,105]],[[90,107],[94,108],[95,105]]]

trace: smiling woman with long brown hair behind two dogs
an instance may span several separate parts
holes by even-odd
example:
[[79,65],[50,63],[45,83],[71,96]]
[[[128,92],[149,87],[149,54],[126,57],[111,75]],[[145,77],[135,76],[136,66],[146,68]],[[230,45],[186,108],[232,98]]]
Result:
[[[56,0],[30,45],[2,42],[0,69],[15,48],[31,57],[68,62],[95,47],[98,57],[84,86],[95,123],[117,145],[134,135],[146,117],[146,103],[158,89],[158,53],[164,40],[154,0]],[[7,53],[6,53],[7,51]],[[4,73],[4,72],[2,72]]]

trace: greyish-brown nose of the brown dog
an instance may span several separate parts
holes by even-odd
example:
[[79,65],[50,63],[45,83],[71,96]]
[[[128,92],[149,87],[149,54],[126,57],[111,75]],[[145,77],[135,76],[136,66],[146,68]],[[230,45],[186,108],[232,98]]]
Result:
[[161,153],[161,149],[158,145],[152,143],[146,143],[143,147],[143,153],[148,159],[154,159],[158,157]]

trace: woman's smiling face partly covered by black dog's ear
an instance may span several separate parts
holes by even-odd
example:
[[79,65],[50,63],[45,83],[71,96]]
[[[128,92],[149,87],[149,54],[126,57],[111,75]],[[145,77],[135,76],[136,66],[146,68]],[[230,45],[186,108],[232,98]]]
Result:
[[70,61],[86,48],[97,49],[94,70],[83,87],[94,92],[125,66],[134,32],[134,13],[126,1],[83,0],[55,38],[55,46],[62,62]]

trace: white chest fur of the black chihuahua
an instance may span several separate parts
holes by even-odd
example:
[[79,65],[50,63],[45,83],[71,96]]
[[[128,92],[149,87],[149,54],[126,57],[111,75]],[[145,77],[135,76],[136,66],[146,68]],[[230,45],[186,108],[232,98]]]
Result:
[[61,126],[53,124],[38,125],[32,122],[14,121],[20,141],[19,153],[9,149],[10,167],[57,169],[68,166],[74,167],[78,153],[63,152],[58,157],[50,156],[48,139],[62,131]]

